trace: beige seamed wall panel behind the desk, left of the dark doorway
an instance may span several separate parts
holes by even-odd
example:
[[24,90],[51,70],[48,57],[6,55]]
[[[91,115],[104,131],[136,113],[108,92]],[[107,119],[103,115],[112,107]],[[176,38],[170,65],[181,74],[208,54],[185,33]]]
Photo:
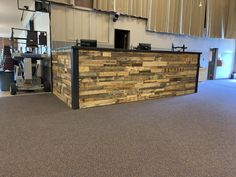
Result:
[[52,6],[52,41],[75,42],[76,39],[97,39],[108,42],[108,14]]

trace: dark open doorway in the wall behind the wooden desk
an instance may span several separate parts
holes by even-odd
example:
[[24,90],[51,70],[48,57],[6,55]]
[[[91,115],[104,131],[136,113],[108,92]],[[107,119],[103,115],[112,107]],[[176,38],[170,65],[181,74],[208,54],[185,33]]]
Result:
[[115,48],[129,49],[130,31],[115,29]]

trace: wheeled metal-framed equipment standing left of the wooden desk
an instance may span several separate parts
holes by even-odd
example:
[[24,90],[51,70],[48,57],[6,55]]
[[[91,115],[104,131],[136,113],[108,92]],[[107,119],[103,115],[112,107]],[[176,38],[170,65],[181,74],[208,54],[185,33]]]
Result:
[[[14,30],[26,32],[26,37],[14,37]],[[25,41],[25,42],[19,42]],[[17,44],[24,44],[27,52],[16,51]],[[41,47],[41,51],[39,50]],[[45,31],[33,31],[19,28],[12,28],[12,59],[14,63],[14,83],[10,84],[10,94],[15,95],[18,91],[39,91],[49,92],[50,82],[44,77],[43,61],[47,59],[47,53],[43,53],[43,47],[47,49],[47,33]]]

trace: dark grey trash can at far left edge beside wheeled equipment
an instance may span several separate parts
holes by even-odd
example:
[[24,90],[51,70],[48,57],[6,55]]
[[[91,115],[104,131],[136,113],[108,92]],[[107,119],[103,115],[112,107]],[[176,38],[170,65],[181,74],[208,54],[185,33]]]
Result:
[[14,82],[13,71],[0,71],[0,90],[10,91],[10,84]]

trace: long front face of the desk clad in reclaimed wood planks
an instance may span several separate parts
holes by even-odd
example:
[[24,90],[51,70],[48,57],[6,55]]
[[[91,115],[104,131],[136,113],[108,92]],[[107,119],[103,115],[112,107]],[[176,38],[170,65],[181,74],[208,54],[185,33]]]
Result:
[[80,108],[195,93],[198,54],[79,50]]

